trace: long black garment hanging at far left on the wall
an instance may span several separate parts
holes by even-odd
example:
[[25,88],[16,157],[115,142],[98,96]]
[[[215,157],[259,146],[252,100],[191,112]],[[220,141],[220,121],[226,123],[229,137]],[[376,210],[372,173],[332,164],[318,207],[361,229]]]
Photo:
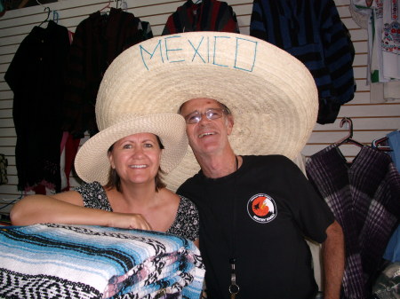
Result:
[[60,192],[61,106],[68,29],[49,21],[20,43],[4,79],[14,93],[18,190],[44,185]]

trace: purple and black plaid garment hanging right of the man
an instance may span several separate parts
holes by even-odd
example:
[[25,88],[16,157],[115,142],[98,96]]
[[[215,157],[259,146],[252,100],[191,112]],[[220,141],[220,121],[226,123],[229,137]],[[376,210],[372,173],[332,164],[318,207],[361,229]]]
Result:
[[371,295],[381,257],[400,214],[400,175],[386,153],[364,146],[349,163],[332,145],[306,162],[316,186],[343,228],[342,298]]

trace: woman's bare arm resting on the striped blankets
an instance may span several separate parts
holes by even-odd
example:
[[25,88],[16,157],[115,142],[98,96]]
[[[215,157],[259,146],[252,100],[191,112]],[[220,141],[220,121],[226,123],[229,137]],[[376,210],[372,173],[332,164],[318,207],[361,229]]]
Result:
[[76,191],[52,196],[29,195],[14,205],[10,217],[13,225],[57,223],[151,230],[150,224],[140,214],[84,208],[82,196]]

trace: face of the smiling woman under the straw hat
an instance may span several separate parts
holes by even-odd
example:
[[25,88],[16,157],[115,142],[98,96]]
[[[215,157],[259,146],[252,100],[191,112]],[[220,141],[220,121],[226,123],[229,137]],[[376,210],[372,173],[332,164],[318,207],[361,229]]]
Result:
[[108,155],[122,184],[154,183],[161,159],[156,135],[138,133],[119,139]]

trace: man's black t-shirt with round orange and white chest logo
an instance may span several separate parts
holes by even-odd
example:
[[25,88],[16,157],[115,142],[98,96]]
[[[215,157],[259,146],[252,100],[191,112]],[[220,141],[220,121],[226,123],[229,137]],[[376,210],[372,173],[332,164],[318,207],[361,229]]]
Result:
[[236,299],[308,299],[317,286],[304,240],[324,242],[334,217],[301,170],[281,155],[243,156],[235,173],[200,171],[180,186],[200,213],[200,251],[209,299],[230,298],[229,258],[236,258]]

